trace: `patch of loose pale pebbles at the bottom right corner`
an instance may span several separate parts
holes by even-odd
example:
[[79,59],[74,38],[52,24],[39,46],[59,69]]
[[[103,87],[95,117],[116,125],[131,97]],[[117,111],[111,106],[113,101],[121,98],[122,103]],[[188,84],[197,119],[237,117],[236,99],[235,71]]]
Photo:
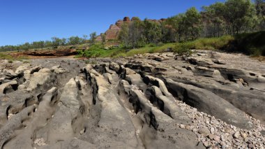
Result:
[[[181,110],[185,111],[192,119],[192,124],[185,126],[197,136],[197,141],[201,141],[206,148],[262,148],[265,147],[265,137],[261,132],[265,130],[264,125],[260,124],[255,118],[249,115],[246,117],[254,124],[253,129],[245,130],[229,125],[222,120],[215,119],[203,112],[195,111],[192,107],[185,105],[181,101]],[[179,125],[181,127],[181,125]]]

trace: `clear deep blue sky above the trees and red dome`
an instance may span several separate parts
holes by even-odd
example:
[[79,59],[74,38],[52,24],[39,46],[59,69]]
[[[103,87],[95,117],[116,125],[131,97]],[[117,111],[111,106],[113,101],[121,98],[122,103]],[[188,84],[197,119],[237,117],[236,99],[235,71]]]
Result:
[[0,45],[105,32],[123,17],[160,19],[225,0],[0,0]]

